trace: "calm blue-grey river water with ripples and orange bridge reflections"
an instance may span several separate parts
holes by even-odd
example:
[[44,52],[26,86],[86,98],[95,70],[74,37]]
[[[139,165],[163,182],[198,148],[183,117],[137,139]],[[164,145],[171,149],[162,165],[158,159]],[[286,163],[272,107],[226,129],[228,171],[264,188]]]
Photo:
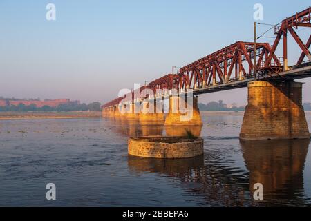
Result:
[[[135,135],[185,128],[125,119],[0,121],[0,206],[311,206],[310,140],[240,142],[243,114],[202,114],[205,154],[131,157]],[[311,115],[307,114],[309,126]],[[310,130],[311,131],[311,130]],[[264,200],[252,198],[262,183]],[[46,200],[46,184],[56,200]]]

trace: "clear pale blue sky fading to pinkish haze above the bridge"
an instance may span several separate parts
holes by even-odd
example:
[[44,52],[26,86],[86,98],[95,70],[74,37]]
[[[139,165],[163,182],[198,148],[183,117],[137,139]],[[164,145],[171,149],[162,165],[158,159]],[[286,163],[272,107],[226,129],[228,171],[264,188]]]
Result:
[[[56,6],[55,21],[46,19],[48,3]],[[172,66],[235,41],[252,41],[255,3],[263,5],[261,22],[273,24],[310,5],[305,0],[1,0],[0,96],[109,102],[120,89],[153,81],[171,73]],[[310,28],[299,34],[306,41]],[[298,57],[300,51],[292,49],[290,58]],[[299,81],[306,83],[303,102],[311,102],[311,79]],[[247,88],[200,95],[199,102],[218,100],[244,105]]]

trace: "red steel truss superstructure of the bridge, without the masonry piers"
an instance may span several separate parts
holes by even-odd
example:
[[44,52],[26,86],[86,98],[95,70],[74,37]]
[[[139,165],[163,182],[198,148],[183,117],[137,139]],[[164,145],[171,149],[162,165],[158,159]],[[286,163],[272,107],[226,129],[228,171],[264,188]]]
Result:
[[[140,94],[144,89],[163,92],[161,97],[169,96],[169,91],[187,93],[191,90],[194,95],[212,93],[220,90],[246,87],[249,81],[292,81],[311,77],[311,8],[298,12],[274,26],[276,38],[272,45],[268,43],[254,43],[237,41],[236,43],[218,50],[211,55],[202,57],[178,70],[176,74],[168,74],[149,83],[146,86],[132,91],[129,95],[118,97],[104,104],[104,108],[116,106],[124,98],[133,102],[142,102],[143,99],[152,99],[149,95],[138,101],[133,99],[134,94]],[[308,29],[308,41],[303,42],[298,35],[298,28]],[[292,36],[295,46],[300,53],[296,57],[296,64],[288,66],[288,35]],[[281,42],[283,41],[283,44]],[[276,55],[278,50],[279,55]]]

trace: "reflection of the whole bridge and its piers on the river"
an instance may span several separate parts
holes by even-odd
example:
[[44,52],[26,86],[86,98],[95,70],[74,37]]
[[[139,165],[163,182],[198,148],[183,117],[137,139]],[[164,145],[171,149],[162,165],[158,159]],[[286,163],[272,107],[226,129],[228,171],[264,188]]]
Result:
[[[113,120],[115,131],[126,136],[162,135],[164,126],[141,126],[137,121]],[[196,128],[200,134],[201,127]],[[171,136],[180,131],[170,128]],[[128,157],[134,173],[156,173],[194,196],[200,206],[305,206],[303,169],[310,140],[241,141],[245,167],[224,161],[205,146],[205,155],[165,160]],[[207,144],[208,145],[208,144]],[[246,168],[246,170],[245,170]],[[262,183],[264,200],[252,200],[255,183]]]

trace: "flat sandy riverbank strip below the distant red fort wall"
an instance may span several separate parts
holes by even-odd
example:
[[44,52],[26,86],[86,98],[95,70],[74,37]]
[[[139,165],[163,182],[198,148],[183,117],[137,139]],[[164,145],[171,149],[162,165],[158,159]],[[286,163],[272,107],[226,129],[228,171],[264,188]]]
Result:
[[102,117],[100,111],[68,111],[68,112],[0,112],[0,120],[7,119],[74,119]]

